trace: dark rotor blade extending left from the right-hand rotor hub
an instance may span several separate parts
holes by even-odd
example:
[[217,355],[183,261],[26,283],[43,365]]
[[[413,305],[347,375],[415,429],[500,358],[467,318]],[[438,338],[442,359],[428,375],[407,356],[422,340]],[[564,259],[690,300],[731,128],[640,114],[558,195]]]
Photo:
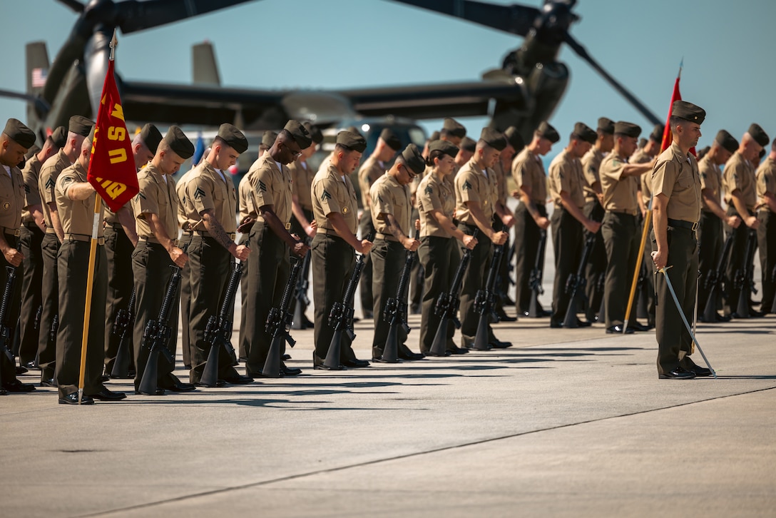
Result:
[[528,5],[496,5],[474,0],[393,0],[393,2],[441,12],[522,37],[528,34],[540,14],[539,9]]

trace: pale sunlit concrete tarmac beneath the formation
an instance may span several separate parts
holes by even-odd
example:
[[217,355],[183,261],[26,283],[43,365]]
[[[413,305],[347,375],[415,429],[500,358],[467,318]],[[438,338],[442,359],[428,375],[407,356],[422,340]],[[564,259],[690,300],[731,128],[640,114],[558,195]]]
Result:
[[514,346],[329,372],[304,330],[299,377],[0,397],[0,516],[774,516],[773,315],[700,325],[719,379],[691,381],[657,379],[653,332],[495,329]]

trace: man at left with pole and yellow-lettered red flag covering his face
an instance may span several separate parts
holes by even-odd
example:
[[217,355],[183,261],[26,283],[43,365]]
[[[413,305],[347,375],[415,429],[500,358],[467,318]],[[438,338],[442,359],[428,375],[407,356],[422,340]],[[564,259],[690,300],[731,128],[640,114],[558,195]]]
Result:
[[[116,47],[115,35],[111,47]],[[101,381],[107,289],[105,238],[98,224],[102,201],[115,212],[138,192],[113,65],[112,50],[97,123],[76,162],[64,169],[55,186],[64,231],[57,259],[61,324],[56,377],[59,402],[69,405],[126,397],[123,392],[109,391]],[[81,389],[84,396],[79,402]]]

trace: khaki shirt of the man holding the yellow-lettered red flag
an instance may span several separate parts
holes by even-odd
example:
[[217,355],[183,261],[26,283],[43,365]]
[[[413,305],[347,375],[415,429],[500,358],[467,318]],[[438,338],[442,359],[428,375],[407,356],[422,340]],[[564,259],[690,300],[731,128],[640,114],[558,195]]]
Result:
[[[85,200],[71,200],[68,197],[68,191],[76,183],[86,182],[86,169],[81,167],[80,162],[75,162],[73,165],[64,169],[63,172],[57,178],[56,186],[54,186],[54,193],[57,200],[57,212],[62,222],[62,231],[65,235],[76,234],[92,237],[92,224],[95,217],[95,196],[97,193],[92,193]],[[100,202],[100,214],[99,219],[102,220],[102,214],[104,214],[105,202]],[[97,225],[97,237],[102,238],[102,225]]]

